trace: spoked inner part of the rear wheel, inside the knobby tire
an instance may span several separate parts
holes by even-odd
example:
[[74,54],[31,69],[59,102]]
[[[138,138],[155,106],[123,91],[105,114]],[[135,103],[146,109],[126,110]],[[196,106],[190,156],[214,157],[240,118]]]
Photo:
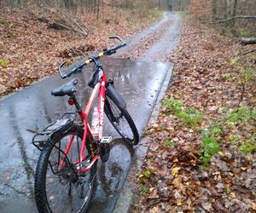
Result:
[[[76,170],[77,166],[73,164],[79,157],[80,145],[82,144],[82,139],[79,136],[74,136],[65,165],[59,169],[60,159],[65,156],[63,151],[72,135],[74,134],[65,135],[57,146],[53,147],[49,155],[45,177],[45,194],[49,208],[53,212],[80,212],[89,201],[92,191],[92,170],[79,175]],[[87,149],[84,154],[88,154]],[[83,166],[86,164],[90,164],[89,158],[84,160]]]

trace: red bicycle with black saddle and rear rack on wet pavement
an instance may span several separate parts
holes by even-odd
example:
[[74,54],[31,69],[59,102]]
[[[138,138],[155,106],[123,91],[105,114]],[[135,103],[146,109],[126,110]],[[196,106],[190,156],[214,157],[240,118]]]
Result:
[[[107,78],[100,63],[100,58],[113,55],[126,45],[121,37],[109,38],[118,39],[120,44],[90,55],[88,60],[66,73],[63,71],[66,61],[59,66],[61,78],[69,78],[82,72],[84,66],[94,63],[93,76],[88,83],[93,90],[84,110],[75,97],[78,79],[74,78],[51,92],[55,96],[68,95],[68,104],[74,105],[76,112],[65,113],[32,139],[32,144],[41,151],[34,185],[38,212],[84,212],[88,208],[96,182],[97,161],[99,158],[102,162],[108,161],[112,141],[111,136],[102,135],[103,112],[125,141],[131,145],[137,145],[139,141],[137,127],[126,110],[125,101],[114,89],[113,80]],[[97,119],[90,127],[88,116],[97,94]]]

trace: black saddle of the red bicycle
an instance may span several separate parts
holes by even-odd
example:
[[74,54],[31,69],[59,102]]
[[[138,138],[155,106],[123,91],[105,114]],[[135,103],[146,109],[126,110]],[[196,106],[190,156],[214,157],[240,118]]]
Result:
[[63,96],[63,95],[73,95],[77,89],[75,88],[75,85],[78,83],[78,79],[74,78],[70,82],[57,87],[55,89],[51,90],[51,95],[55,96]]

